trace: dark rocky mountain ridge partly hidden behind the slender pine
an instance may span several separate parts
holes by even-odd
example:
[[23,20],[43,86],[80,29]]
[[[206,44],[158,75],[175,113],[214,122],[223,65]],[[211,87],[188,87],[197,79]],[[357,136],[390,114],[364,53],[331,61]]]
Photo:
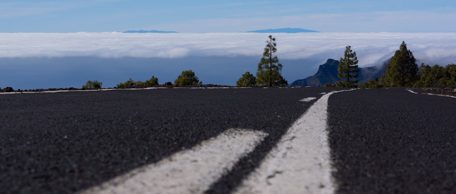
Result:
[[[383,62],[382,64],[371,66],[371,67],[361,67],[358,68],[358,78],[359,82],[369,81],[371,79],[380,78],[385,74],[386,67],[390,63],[390,60]],[[306,79],[293,81],[292,86],[324,86],[325,83],[335,83],[341,79],[337,77],[339,68],[339,61],[334,59],[328,59],[325,64],[320,65],[317,73],[313,76],[309,76]],[[359,83],[358,82],[358,83]]]

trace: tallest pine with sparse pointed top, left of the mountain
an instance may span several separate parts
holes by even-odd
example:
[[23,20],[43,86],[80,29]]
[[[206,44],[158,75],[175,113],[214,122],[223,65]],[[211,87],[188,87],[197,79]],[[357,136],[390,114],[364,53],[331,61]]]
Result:
[[288,82],[281,76],[282,65],[278,63],[277,56],[272,56],[273,53],[277,52],[276,38],[269,35],[269,40],[266,43],[263,57],[258,64],[257,84],[269,87],[287,85]]

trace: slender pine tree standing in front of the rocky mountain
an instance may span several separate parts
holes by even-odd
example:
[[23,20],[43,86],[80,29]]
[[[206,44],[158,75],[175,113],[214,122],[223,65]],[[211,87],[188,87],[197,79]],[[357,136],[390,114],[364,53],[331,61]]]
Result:
[[[340,60],[340,65],[337,71],[337,77],[341,78],[342,81],[335,83],[337,87],[358,87],[357,80],[350,81],[350,78],[358,78],[358,59],[356,57],[356,52],[352,52],[350,46],[345,47],[345,52],[343,53],[343,59]],[[346,80],[345,80],[346,79]]]

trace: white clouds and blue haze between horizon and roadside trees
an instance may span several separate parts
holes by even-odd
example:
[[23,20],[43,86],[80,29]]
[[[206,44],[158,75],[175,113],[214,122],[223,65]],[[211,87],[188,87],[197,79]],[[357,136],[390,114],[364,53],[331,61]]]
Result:
[[[181,71],[188,69],[193,69],[203,83],[234,85],[245,71],[256,71],[268,35],[0,33],[0,71],[9,75],[0,77],[0,87],[5,84],[29,89],[58,87],[55,83],[61,84],[61,87],[81,87],[81,82],[100,77],[104,86],[114,87],[116,82],[128,78],[146,79],[150,75],[159,77],[159,82],[163,83],[174,81]],[[283,76],[289,83],[313,75],[318,65],[328,58],[338,60],[343,57],[347,45],[357,53],[360,67],[387,60],[399,49],[402,41],[413,52],[418,65],[456,63],[456,33],[320,32],[272,35],[277,40],[276,54],[284,66]],[[142,74],[144,72],[147,74]]]

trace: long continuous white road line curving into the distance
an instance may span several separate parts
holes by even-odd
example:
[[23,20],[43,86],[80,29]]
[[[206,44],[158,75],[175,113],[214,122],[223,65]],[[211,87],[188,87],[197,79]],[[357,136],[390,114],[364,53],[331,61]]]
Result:
[[[349,91],[349,90],[342,90]],[[342,92],[337,91],[337,92]],[[281,138],[235,194],[332,194],[327,104],[321,97]]]

